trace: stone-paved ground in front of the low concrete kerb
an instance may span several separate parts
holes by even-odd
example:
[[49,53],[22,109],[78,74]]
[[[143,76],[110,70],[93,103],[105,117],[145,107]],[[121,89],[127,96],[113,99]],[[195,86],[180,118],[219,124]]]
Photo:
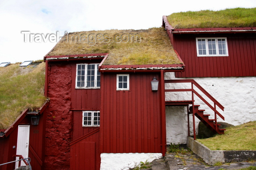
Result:
[[[152,170],[238,170],[249,166],[255,166],[256,162],[232,162],[219,166],[209,166],[200,157],[192,153],[187,147],[182,146],[182,154],[168,153],[165,158],[154,160],[149,169]],[[184,149],[185,148],[185,149]]]

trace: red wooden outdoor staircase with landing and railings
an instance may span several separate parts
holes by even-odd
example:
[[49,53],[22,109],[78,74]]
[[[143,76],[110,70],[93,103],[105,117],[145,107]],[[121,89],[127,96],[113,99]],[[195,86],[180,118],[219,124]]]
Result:
[[[194,139],[196,139],[196,132],[195,132],[195,116],[201,120],[211,131],[218,134],[224,134],[226,129],[219,129],[220,124],[217,123],[217,115],[225,120],[225,118],[217,111],[216,106],[218,106],[222,111],[224,111],[224,107],[214,99],[203,87],[201,87],[195,80],[193,79],[174,79],[174,80],[165,80],[166,83],[191,83],[191,88],[182,88],[182,89],[165,89],[165,92],[191,92],[191,99],[192,100],[183,100],[183,101],[165,101],[166,106],[187,106],[188,108],[188,115],[193,115],[193,135]],[[194,88],[194,86],[196,88]],[[213,102],[213,106],[207,102],[207,100],[199,94],[200,91],[203,93],[208,100]],[[200,110],[200,105],[195,105],[194,102],[194,94],[201,99],[212,111],[214,111],[214,119],[209,119],[210,114],[204,114],[205,110]],[[189,105],[192,105],[189,107]],[[189,122],[189,116],[188,116]],[[188,135],[189,134],[189,123],[188,123]]]

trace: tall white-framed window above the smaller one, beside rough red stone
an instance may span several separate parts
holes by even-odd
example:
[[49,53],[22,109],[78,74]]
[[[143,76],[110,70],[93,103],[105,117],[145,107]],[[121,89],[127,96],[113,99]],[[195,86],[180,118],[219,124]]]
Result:
[[76,64],[76,88],[100,88],[99,64]]

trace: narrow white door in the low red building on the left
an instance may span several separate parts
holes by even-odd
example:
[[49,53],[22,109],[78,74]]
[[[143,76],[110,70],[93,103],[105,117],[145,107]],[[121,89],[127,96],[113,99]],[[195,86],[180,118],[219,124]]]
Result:
[[[18,127],[18,138],[17,138],[17,151],[16,155],[22,155],[23,158],[29,157],[29,125],[19,125]],[[16,157],[16,160],[19,160],[19,157]],[[20,166],[25,165],[21,161]],[[19,163],[16,162],[15,169],[18,168]]]

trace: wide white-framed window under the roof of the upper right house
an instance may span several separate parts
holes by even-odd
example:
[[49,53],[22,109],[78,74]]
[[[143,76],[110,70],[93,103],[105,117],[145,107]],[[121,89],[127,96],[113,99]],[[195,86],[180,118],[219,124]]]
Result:
[[196,38],[197,56],[228,56],[227,38]]

